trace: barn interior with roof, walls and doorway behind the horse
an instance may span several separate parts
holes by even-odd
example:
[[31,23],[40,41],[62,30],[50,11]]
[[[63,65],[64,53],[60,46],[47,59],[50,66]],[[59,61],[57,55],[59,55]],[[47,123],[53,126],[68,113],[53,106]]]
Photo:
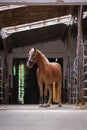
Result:
[[[86,4],[1,4],[0,28],[1,104],[39,103],[37,66],[26,67],[29,47],[41,50],[50,62],[61,64],[63,103],[87,101],[87,81],[83,83]],[[85,52],[87,55],[87,46]],[[87,72],[86,66],[87,59]]]

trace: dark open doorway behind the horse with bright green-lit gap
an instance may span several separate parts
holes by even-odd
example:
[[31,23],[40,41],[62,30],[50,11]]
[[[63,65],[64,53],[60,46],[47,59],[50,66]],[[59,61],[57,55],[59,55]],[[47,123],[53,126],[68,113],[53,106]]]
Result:
[[[27,59],[13,59],[13,103],[38,104],[39,89],[36,79],[37,65],[29,69],[26,67]],[[50,62],[58,62],[63,70],[63,58],[49,58]]]

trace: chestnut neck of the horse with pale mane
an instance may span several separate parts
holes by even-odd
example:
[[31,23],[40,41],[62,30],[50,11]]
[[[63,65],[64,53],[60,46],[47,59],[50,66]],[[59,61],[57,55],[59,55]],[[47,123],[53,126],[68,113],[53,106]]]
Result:
[[49,64],[48,59],[41,52],[39,52],[39,60],[37,64],[40,70],[45,70],[46,66]]

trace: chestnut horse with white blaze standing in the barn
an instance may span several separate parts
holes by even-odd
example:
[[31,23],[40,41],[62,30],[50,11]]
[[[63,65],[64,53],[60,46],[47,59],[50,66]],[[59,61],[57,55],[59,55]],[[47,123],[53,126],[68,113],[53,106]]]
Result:
[[[40,106],[50,106],[52,100],[52,87],[55,82],[58,87],[58,104],[61,106],[61,87],[62,87],[62,70],[60,64],[50,63],[43,53],[35,48],[29,48],[27,67],[37,64],[37,81],[40,91]],[[45,86],[43,92],[43,85]],[[47,103],[47,92],[49,90],[49,100]],[[43,100],[44,95],[44,100]]]

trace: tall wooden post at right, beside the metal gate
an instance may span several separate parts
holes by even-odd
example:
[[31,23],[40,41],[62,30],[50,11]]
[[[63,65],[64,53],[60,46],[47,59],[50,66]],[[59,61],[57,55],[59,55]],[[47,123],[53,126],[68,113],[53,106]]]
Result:
[[78,76],[77,76],[77,87],[79,89],[79,95],[80,97],[79,100],[83,104],[83,90],[82,90],[82,79],[81,79],[81,43],[83,42],[83,37],[82,37],[82,19],[83,19],[83,6],[78,7],[78,35],[77,35],[77,50],[76,50],[76,55],[77,55],[77,65],[78,65]]

